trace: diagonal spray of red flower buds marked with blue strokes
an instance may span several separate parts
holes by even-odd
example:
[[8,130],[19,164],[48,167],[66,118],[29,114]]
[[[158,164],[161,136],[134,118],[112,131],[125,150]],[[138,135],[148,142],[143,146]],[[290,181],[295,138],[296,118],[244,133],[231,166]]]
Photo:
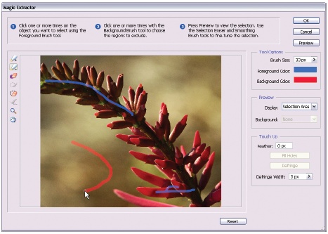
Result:
[[[110,129],[129,128],[132,132],[131,135],[117,134],[117,138],[127,144],[147,147],[152,152],[152,154],[147,155],[130,151],[130,154],[137,160],[154,165],[166,176],[166,178],[162,178],[132,167],[131,169],[136,176],[156,186],[156,188],[138,187],[137,190],[140,193],[148,197],[187,197],[192,202],[190,207],[209,207],[216,202],[221,202],[221,182],[211,190],[211,193],[204,200],[200,195],[211,176],[215,152],[211,152],[211,148],[209,146],[206,148],[206,144],[202,143],[199,131],[196,131],[192,148],[189,151],[185,151],[182,145],[180,149],[173,145],[187,126],[188,115],[176,123],[171,131],[169,112],[166,105],[162,103],[159,119],[155,126],[152,126],[145,119],[147,92],[142,84],[137,87],[136,91],[131,86],[129,87],[128,98],[122,97],[125,107],[120,108],[119,97],[123,89],[124,74],[119,74],[117,81],[114,82],[109,75],[105,79],[103,71],[97,73],[95,67],[81,67],[79,74],[80,69],[77,60],[74,61],[73,71],[65,63],[62,64],[58,60],[56,60],[55,65],[56,67],[51,67],[55,75],[52,77],[46,65],[41,64],[41,93],[76,96],[79,98],[77,104],[91,105],[93,109],[98,110],[95,113],[97,118],[121,117],[121,120],[110,122],[107,127]],[[63,82],[51,83],[49,82],[51,80]],[[105,80],[107,90],[103,89]],[[67,84],[64,81],[78,83]],[[79,82],[85,84],[86,87],[93,87],[93,89],[85,89],[79,85]],[[113,105],[108,100],[118,105]],[[197,173],[202,167],[204,169],[198,182]],[[120,190],[114,190],[114,193],[141,207],[174,207],[162,202],[129,195]]]

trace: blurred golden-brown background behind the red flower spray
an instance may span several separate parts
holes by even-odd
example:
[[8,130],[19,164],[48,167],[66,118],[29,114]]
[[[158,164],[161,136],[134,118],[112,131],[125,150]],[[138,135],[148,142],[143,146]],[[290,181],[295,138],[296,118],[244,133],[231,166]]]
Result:
[[[221,181],[221,56],[42,56],[41,63],[51,71],[58,59],[72,69],[76,58],[80,67],[90,65],[97,72],[104,70],[114,81],[118,74],[124,73],[122,96],[128,96],[129,86],[136,89],[138,84],[143,84],[148,93],[145,117],[150,124],[158,120],[161,103],[168,107],[171,129],[188,115],[185,131],[174,145],[182,144],[190,150],[195,131],[199,130],[202,143],[216,152],[211,179],[202,192],[204,199]],[[103,87],[107,89],[105,82]],[[137,187],[155,186],[138,178],[131,167],[165,177],[153,165],[129,154],[129,150],[145,153],[150,150],[127,145],[116,138],[116,134],[131,134],[129,129],[107,128],[109,122],[119,118],[96,119],[96,110],[75,104],[76,99],[41,95],[41,207],[135,207],[117,197],[114,188],[150,200],[189,206],[185,197],[166,200],[140,194]],[[111,180],[90,192],[89,200],[83,190],[107,178],[108,169],[98,157],[72,145],[71,141],[96,150],[113,168]],[[202,169],[198,179],[201,173]]]

